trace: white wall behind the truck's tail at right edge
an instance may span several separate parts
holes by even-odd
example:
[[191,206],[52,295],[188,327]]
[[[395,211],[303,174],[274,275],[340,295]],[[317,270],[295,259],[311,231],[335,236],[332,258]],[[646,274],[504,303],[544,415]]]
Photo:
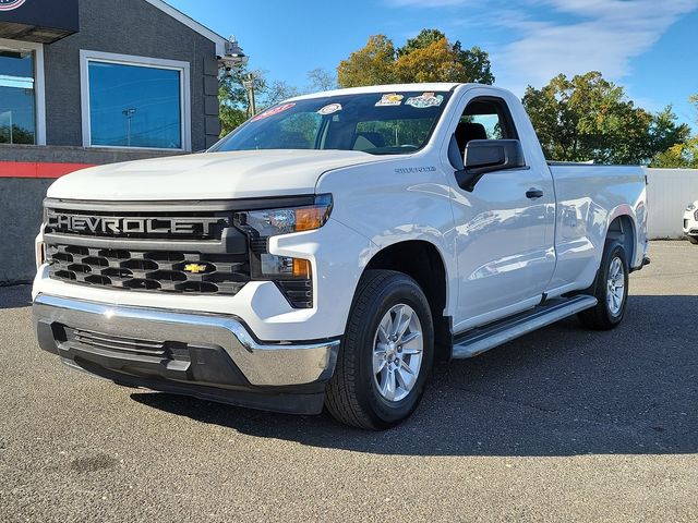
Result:
[[686,206],[698,199],[698,169],[647,169],[650,240],[683,238]]

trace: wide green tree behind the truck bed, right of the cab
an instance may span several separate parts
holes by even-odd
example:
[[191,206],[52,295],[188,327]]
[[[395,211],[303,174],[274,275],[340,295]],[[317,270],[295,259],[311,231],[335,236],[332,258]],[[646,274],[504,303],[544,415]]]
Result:
[[648,163],[689,133],[671,107],[657,114],[638,108],[595,71],[571,80],[559,74],[541,89],[529,86],[522,101],[553,160]]

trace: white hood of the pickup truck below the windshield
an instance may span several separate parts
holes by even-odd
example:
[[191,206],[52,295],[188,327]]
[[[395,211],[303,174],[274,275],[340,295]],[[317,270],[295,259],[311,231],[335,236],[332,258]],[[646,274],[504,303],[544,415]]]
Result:
[[94,200],[231,199],[312,194],[332,169],[382,161],[352,150],[245,150],[92,167],[58,179],[48,197]]

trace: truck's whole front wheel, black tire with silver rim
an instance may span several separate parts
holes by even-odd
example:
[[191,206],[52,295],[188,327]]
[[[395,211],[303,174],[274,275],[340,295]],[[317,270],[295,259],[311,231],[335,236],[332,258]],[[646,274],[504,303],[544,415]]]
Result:
[[326,406],[341,423],[373,430],[407,418],[431,369],[429,302],[409,276],[368,270],[357,290]]

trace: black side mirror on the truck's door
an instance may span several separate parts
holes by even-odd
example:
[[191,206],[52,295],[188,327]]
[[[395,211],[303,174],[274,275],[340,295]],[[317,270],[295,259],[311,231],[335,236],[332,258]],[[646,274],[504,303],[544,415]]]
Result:
[[460,188],[472,192],[488,172],[525,166],[518,139],[471,139],[466,146],[465,169],[456,171],[456,181]]

